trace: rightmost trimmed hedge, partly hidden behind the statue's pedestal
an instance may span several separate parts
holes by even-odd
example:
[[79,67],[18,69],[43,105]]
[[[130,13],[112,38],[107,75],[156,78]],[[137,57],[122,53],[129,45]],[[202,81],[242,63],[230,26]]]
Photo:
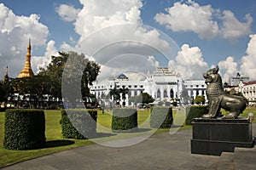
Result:
[[195,118],[201,117],[209,111],[209,107],[207,105],[193,105],[189,108],[189,114],[185,121],[186,125],[191,125]]

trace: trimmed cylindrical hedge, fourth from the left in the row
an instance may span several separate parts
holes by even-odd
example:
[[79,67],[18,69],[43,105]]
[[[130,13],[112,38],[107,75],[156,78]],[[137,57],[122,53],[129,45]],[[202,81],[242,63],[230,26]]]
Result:
[[172,126],[172,107],[154,106],[150,113],[150,127],[170,128]]

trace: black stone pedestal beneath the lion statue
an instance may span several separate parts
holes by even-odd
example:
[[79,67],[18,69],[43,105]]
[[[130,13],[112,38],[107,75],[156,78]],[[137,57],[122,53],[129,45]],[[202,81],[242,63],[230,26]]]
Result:
[[220,156],[235,147],[252,148],[252,123],[247,118],[202,119],[192,122],[191,153]]

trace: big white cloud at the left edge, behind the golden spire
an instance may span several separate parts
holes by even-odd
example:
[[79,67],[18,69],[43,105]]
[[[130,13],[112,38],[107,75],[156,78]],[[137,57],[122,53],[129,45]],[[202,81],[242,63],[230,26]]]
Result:
[[[44,45],[49,35],[47,26],[40,23],[38,14],[18,16],[0,3],[1,68],[9,66],[9,76],[17,77],[26,59],[28,39],[32,38],[32,49]],[[3,75],[3,70],[0,71]]]

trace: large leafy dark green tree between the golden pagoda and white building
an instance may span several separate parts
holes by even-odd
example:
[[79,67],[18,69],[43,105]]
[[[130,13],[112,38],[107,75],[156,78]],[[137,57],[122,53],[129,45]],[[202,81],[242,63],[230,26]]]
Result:
[[[78,93],[82,93],[82,97],[85,97],[90,96],[90,84],[96,80],[100,68],[100,65],[90,61],[84,54],[59,52],[59,56],[52,56],[49,65],[45,69],[40,69],[38,75],[49,77],[49,81],[52,82],[51,94],[54,97],[62,98],[63,76],[67,91],[68,89],[81,89]],[[75,105],[75,97],[78,95],[73,94],[73,90],[70,90],[70,94],[67,95]]]

